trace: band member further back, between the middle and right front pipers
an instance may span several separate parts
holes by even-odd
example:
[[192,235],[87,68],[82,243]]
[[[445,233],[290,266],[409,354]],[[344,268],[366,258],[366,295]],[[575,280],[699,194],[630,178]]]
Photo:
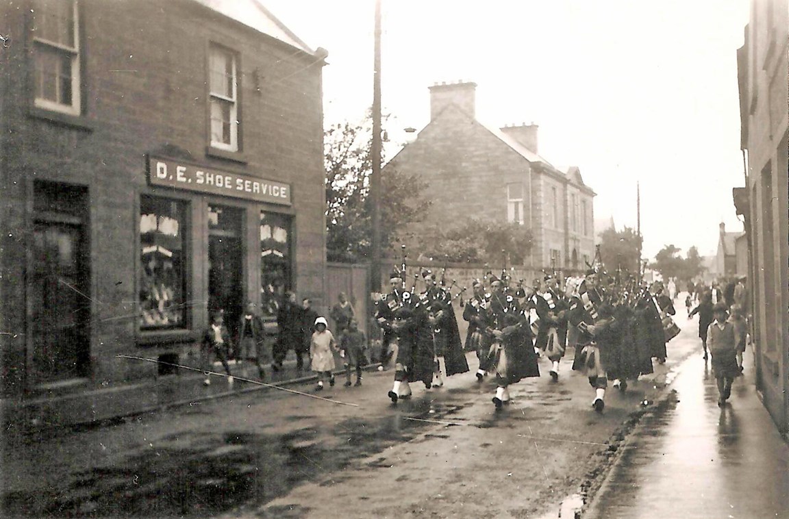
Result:
[[537,332],[535,347],[544,351],[552,362],[551,379],[559,380],[559,360],[564,357],[567,346],[567,303],[559,296],[556,278],[547,274],[544,278],[545,291],[543,301],[537,301],[537,316],[540,316],[540,328]]

